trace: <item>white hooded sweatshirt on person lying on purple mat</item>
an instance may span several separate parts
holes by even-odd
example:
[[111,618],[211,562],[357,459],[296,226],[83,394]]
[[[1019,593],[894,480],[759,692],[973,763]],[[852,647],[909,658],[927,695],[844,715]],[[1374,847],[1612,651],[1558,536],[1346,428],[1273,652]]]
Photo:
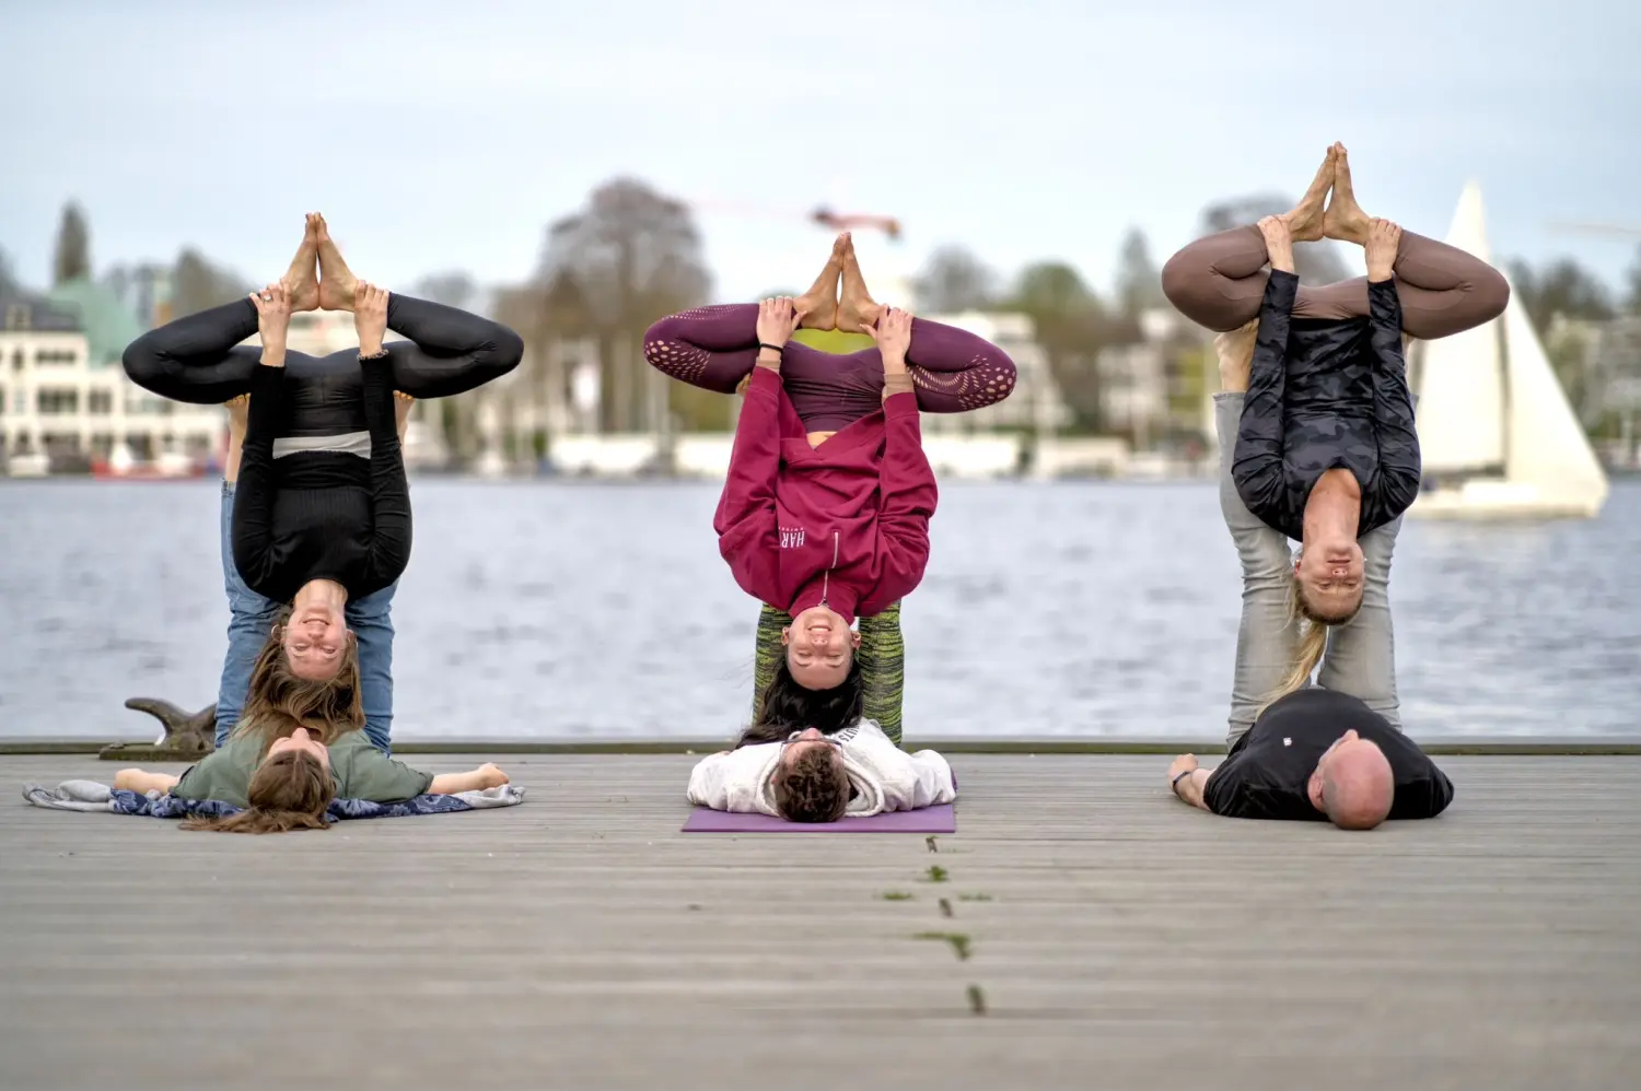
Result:
[[[957,799],[952,766],[934,750],[906,753],[871,720],[845,727],[832,740],[842,743],[843,769],[853,789],[845,819]],[[689,774],[689,802],[712,810],[781,817],[771,779],[783,745],[757,743],[702,758]]]

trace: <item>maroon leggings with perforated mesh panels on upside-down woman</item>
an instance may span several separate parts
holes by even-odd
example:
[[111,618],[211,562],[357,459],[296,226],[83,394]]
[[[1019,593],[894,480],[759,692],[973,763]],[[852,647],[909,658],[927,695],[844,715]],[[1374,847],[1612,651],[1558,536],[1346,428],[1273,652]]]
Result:
[[[658,371],[719,394],[734,394],[758,363],[758,305],[696,307],[661,318],[643,335],[643,358]],[[1014,361],[965,330],[912,318],[906,371],[917,409],[962,413],[1001,402],[1014,389]],[[809,431],[839,431],[883,409],[883,356],[876,348],[825,353],[788,341],[781,384]]]

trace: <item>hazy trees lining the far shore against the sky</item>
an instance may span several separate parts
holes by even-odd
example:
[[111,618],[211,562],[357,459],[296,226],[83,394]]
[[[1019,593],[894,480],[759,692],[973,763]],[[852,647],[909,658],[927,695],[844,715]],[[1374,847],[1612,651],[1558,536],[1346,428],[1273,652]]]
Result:
[[[1291,199],[1259,194],[1223,200],[1201,213],[1198,233],[1206,235],[1285,212]],[[1331,244],[1301,244],[1296,253],[1301,282],[1328,284],[1349,276]],[[1608,285],[1570,258],[1539,266],[1510,261],[1518,297],[1544,335],[1556,320],[1605,320],[1620,313],[1641,315],[1641,251],[1620,285]],[[185,246],[169,264],[171,313],[185,315],[248,294],[253,282],[231,266]],[[62,210],[53,256],[57,284],[94,276],[90,226],[84,208],[71,202]],[[105,279],[115,287],[135,276],[113,266]],[[16,287],[0,253],[0,287]],[[709,300],[712,276],[691,208],[638,179],[612,179],[586,203],[550,223],[542,238],[535,271],[523,284],[491,294],[459,271],[423,277],[409,290],[453,307],[484,305],[497,320],[519,330],[532,348],[528,382],[563,382],[543,371],[550,348],[563,341],[592,346],[599,361],[599,425],[606,431],[655,428],[658,412],[670,413],[684,430],[725,427],[727,399],[683,384],[665,382],[643,363],[643,331],[658,317]],[[937,248],[916,279],[917,307],[924,313],[962,310],[1016,312],[1032,318],[1050,372],[1075,415],[1076,430],[1106,430],[1101,417],[1101,351],[1142,340],[1140,317],[1165,307],[1159,266],[1142,231],[1122,241],[1114,284],[1101,294],[1078,269],[1062,259],[1027,264],[1006,277],[963,246]],[[486,300],[487,295],[487,300]],[[1566,384],[1577,382],[1577,338],[1547,338],[1552,363]],[[1195,351],[1200,351],[1200,345]],[[660,399],[656,392],[661,390]],[[1572,390],[1569,390],[1572,392]],[[451,407],[446,423],[463,431],[464,413]],[[471,422],[466,422],[471,425]],[[471,431],[471,427],[466,428]]]

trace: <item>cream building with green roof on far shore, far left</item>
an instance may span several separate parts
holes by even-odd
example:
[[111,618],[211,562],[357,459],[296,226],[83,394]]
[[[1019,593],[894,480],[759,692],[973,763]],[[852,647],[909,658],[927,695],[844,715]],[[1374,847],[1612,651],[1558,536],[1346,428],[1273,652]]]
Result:
[[225,415],[154,397],[125,377],[120,356],[143,333],[105,285],[71,281],[46,297],[0,299],[0,453],[74,468],[125,446],[138,461],[205,461]]

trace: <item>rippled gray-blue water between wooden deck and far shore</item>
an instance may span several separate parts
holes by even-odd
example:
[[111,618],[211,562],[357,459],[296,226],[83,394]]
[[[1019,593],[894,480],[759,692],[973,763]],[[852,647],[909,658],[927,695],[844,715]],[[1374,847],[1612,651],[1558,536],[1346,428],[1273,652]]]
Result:
[[[758,607],[712,484],[417,479],[394,605],[395,738],[720,738]],[[151,738],[210,704],[218,484],[0,484],[0,737]],[[1209,484],[942,486],[903,612],[906,733],[1221,738],[1239,576]],[[1406,728],[1636,735],[1641,486],[1592,522],[1408,522],[1392,602]]]

